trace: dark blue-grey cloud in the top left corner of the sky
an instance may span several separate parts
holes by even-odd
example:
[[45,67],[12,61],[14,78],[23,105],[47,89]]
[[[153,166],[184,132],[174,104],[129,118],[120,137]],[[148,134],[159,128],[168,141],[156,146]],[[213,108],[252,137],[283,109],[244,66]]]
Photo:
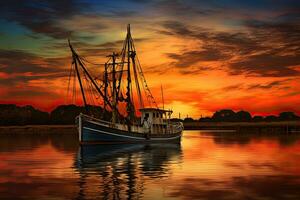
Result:
[[15,21],[34,33],[60,39],[69,37],[72,31],[59,26],[58,21],[81,13],[87,6],[77,0],[1,1],[0,16]]

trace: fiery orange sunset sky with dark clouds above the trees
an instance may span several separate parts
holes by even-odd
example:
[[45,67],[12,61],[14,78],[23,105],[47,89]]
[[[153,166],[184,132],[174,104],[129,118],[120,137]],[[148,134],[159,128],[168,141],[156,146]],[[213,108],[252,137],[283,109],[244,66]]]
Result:
[[174,117],[224,108],[300,114],[297,0],[1,1],[0,103],[65,104],[67,39],[104,63],[128,23],[148,85],[160,105],[163,85]]

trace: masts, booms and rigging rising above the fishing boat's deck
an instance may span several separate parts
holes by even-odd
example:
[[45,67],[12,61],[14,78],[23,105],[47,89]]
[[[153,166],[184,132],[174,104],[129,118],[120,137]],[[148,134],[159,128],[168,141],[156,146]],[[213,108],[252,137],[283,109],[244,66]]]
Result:
[[[99,86],[98,83],[96,83],[95,80],[92,78],[92,76],[89,74],[89,72],[87,71],[87,69],[85,67],[86,60],[81,58],[77,54],[77,52],[73,49],[72,45],[70,44],[70,41],[69,41],[69,46],[72,51],[73,60],[74,60],[75,68],[76,68],[76,72],[77,72],[77,77],[78,77],[78,81],[80,84],[83,102],[84,102],[85,106],[87,106],[87,102],[86,102],[86,97],[84,94],[85,93],[84,88],[83,88],[84,85],[82,84],[83,82],[81,80],[80,73],[83,73],[83,75],[87,78],[87,80],[90,81],[92,87],[94,87],[94,89],[97,91],[97,93],[103,98],[104,112],[106,111],[107,107],[108,107],[108,110],[112,111],[111,121],[113,124],[115,124],[118,120],[118,117],[121,116],[121,114],[118,110],[118,103],[125,102],[125,104],[126,104],[126,118],[125,119],[128,124],[128,131],[131,130],[130,126],[134,123],[134,120],[136,117],[135,107],[137,107],[137,106],[135,105],[133,95],[135,95],[135,94],[137,95],[137,100],[138,100],[138,104],[139,104],[137,108],[144,107],[141,89],[145,90],[144,91],[145,97],[147,98],[148,102],[150,103],[150,106],[151,106],[151,103],[154,103],[157,107],[154,97],[152,96],[151,91],[147,85],[146,79],[144,77],[144,74],[143,74],[143,71],[141,68],[141,64],[140,64],[138,56],[136,54],[134,41],[131,36],[130,24],[127,25],[127,35],[126,35],[125,41],[123,43],[123,48],[122,48],[121,53],[116,54],[115,52],[113,52],[112,55],[108,56],[108,57],[112,58],[112,60],[108,60],[108,62],[105,63],[105,71],[104,71],[104,77],[103,77],[104,83],[101,86]],[[119,58],[120,58],[120,62],[116,62]],[[81,70],[79,70],[80,67],[82,68]],[[127,76],[127,77],[124,77],[122,75]],[[131,75],[133,77],[131,77]],[[127,79],[127,81],[122,81],[122,78]],[[112,85],[111,85],[110,81],[112,81]],[[134,86],[132,86],[132,82],[135,83],[136,91],[133,90]],[[124,89],[126,90],[125,91],[126,97],[123,97],[122,90],[121,90],[121,84],[123,84],[125,87]],[[141,88],[141,87],[143,87],[143,88]],[[163,94],[162,94],[162,96],[163,96]],[[122,105],[124,105],[124,104],[122,104]],[[103,117],[105,115],[104,112],[103,112]]]

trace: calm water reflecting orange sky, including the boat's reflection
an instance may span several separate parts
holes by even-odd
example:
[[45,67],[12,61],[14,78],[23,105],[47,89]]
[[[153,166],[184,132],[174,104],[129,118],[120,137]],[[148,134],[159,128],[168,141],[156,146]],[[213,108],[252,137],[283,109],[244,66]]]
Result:
[[[181,145],[0,136],[2,199],[300,199],[300,139],[185,131]],[[155,197],[155,198],[154,198]]]

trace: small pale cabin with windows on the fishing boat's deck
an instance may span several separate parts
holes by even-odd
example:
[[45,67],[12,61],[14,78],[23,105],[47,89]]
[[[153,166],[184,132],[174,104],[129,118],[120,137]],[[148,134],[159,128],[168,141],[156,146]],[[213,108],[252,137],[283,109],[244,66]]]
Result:
[[142,108],[141,125],[145,132],[150,134],[166,133],[167,122],[170,120],[172,111],[158,108]]

